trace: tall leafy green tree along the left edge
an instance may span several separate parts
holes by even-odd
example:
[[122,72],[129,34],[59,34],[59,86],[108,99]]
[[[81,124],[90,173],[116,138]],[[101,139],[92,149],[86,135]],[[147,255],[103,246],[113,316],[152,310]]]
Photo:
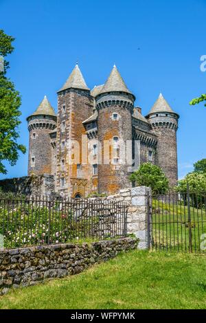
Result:
[[7,173],[3,161],[6,160],[14,166],[19,158],[19,152],[26,151],[25,146],[17,143],[19,138],[17,128],[21,124],[19,120],[21,97],[15,90],[14,83],[6,78],[9,63],[5,60],[5,56],[13,52],[13,41],[12,36],[0,30],[0,55],[4,59],[4,67],[0,71],[0,172],[3,174]]

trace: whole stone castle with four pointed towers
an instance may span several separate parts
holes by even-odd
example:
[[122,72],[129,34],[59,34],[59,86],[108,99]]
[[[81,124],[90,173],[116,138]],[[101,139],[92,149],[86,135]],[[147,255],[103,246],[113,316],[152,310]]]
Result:
[[[67,197],[114,194],[131,186],[132,169],[150,161],[175,186],[179,115],[161,94],[146,117],[134,102],[116,66],[104,85],[90,90],[76,65],[58,91],[58,114],[45,96],[27,118],[28,175],[53,175],[55,191]],[[129,143],[122,151],[121,142]],[[135,154],[135,167],[134,161],[132,168],[121,162],[122,155],[134,159]]]

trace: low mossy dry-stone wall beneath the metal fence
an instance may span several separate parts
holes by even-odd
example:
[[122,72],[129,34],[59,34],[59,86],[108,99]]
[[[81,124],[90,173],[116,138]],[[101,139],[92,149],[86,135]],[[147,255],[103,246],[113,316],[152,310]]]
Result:
[[119,252],[136,249],[138,239],[120,238],[94,243],[43,245],[0,249],[0,294],[11,287],[36,285],[47,278],[79,274],[89,266],[106,261]]

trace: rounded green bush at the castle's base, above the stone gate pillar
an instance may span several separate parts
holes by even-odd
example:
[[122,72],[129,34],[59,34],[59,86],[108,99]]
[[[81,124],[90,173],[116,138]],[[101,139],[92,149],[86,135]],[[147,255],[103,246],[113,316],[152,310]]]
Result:
[[151,163],[141,164],[139,170],[130,175],[130,181],[139,186],[152,188],[154,194],[164,194],[169,190],[169,181],[159,166]]

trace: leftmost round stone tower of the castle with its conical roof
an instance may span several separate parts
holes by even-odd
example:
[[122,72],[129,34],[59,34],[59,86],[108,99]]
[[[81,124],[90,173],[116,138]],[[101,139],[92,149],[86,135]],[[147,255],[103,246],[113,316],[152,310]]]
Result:
[[49,134],[56,128],[56,114],[46,96],[27,122],[30,131],[28,175],[52,174]]

